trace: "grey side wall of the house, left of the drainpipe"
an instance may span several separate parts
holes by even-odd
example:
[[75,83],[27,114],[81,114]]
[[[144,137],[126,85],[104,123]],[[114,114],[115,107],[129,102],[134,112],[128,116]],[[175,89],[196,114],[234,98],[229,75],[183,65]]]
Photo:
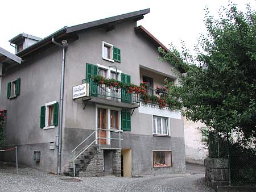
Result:
[[[40,107],[47,102],[59,102],[61,53],[59,48],[51,48],[7,71],[2,78],[0,97],[0,106],[7,109],[6,145],[18,145],[20,163],[52,172],[56,172],[57,150],[50,151],[46,146],[55,142],[57,127],[40,128]],[[7,99],[7,82],[16,78],[20,78],[20,95]],[[34,150],[42,151],[39,164],[34,164]]]

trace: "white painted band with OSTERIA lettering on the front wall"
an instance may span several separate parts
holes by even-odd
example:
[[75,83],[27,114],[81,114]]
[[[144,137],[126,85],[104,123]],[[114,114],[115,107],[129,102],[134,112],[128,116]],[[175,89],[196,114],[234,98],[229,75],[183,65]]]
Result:
[[179,111],[172,111],[169,107],[159,108],[158,105],[151,103],[141,102],[139,112],[143,114],[164,116],[167,118],[181,119],[181,113]]

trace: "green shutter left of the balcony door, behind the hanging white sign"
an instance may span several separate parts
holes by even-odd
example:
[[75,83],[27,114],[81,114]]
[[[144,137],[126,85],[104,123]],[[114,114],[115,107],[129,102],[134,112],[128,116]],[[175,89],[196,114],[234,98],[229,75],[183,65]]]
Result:
[[91,77],[98,75],[98,66],[86,63],[86,80],[90,83],[90,94],[97,97],[97,85],[92,82]]

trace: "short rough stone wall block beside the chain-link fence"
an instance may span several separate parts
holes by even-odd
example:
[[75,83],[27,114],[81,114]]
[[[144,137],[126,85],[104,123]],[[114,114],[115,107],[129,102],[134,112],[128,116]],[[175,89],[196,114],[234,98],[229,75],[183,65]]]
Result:
[[213,189],[228,185],[228,160],[225,158],[205,158],[205,180]]

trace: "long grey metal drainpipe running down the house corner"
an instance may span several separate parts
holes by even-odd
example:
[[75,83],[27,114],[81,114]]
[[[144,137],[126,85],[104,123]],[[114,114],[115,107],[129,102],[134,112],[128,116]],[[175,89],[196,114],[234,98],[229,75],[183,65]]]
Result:
[[52,43],[58,45],[59,47],[63,48],[62,53],[62,65],[61,65],[61,81],[60,81],[60,124],[58,128],[58,135],[57,138],[57,148],[58,148],[58,155],[57,155],[57,174],[60,174],[61,168],[61,140],[62,140],[62,127],[63,127],[63,95],[64,95],[64,72],[65,72],[65,56],[66,51],[68,50],[68,43],[67,40],[61,41],[62,44],[57,43],[52,37]]

